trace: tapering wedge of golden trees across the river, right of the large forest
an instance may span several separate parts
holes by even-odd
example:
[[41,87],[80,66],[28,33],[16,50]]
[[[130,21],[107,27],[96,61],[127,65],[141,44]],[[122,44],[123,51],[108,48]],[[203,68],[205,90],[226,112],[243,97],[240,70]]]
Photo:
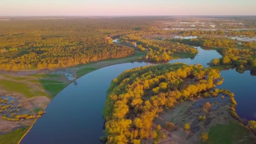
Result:
[[136,47],[139,51],[146,52],[147,61],[170,61],[179,58],[194,58],[198,53],[196,48],[164,40],[150,40],[134,35],[124,35],[118,38],[118,43]]

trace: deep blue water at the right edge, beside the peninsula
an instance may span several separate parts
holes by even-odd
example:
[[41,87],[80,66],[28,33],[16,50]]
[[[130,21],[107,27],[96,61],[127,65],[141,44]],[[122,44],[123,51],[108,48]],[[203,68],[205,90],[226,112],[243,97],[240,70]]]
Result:
[[256,120],[256,76],[251,76],[250,71],[240,74],[230,69],[222,71],[221,77],[224,77],[224,83],[218,87],[235,93],[237,114],[247,120]]

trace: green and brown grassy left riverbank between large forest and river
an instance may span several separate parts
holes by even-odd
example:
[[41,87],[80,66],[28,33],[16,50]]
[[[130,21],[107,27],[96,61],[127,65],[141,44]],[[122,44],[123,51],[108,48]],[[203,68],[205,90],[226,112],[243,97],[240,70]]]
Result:
[[[18,95],[18,101],[20,104],[24,105],[24,111],[38,111],[35,109],[45,110],[48,104],[52,101],[52,99],[64,88],[66,88],[69,84],[73,83],[77,78],[88,74],[96,69],[100,69],[102,67],[107,67],[114,64],[122,64],[128,62],[139,61],[139,57],[144,56],[144,53],[135,51],[133,56],[128,56],[121,59],[108,59],[104,61],[92,62],[89,64],[78,65],[76,67],[69,67],[63,69],[41,69],[41,70],[23,70],[23,71],[1,71],[0,76],[8,80],[8,83],[17,84],[17,85],[25,85],[29,89],[28,91],[24,91],[24,88],[19,88],[19,90],[13,92],[11,90],[12,85],[0,85],[0,93],[1,96]],[[67,71],[68,70],[68,71]],[[66,73],[68,72],[68,74]],[[8,74],[8,77],[6,75]],[[71,76],[68,77],[68,76]],[[73,77],[73,78],[72,78]],[[2,79],[1,79],[2,80]],[[37,90],[37,93],[34,93]],[[40,91],[40,93],[39,93]],[[36,100],[36,101],[33,101]],[[35,104],[33,104],[35,102]],[[37,105],[39,104],[39,107]],[[46,103],[46,104],[45,104]],[[37,107],[37,108],[34,108]],[[27,120],[25,120],[27,121]],[[25,122],[24,121],[24,122]],[[29,120],[29,123],[22,122],[21,124],[16,124],[15,121],[8,121],[8,123],[13,123],[13,128],[29,126],[24,130],[24,135],[22,138],[29,132],[32,128],[32,125],[37,121],[37,118],[33,121]],[[9,128],[10,127],[10,128]],[[9,129],[11,125],[8,125],[8,129],[5,130],[6,127],[1,128],[1,134],[5,137],[8,135],[12,135],[12,131]],[[7,132],[7,133],[6,133]],[[16,133],[19,134],[20,133]],[[10,138],[11,138],[10,137]],[[21,139],[22,139],[21,138]],[[19,142],[21,141],[19,140]],[[7,140],[8,141],[8,140]],[[11,141],[11,140],[10,140]]]

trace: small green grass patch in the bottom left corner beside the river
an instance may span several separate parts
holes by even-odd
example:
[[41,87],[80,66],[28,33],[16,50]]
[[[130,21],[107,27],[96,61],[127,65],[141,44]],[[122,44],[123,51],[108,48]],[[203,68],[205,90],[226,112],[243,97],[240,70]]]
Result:
[[18,128],[11,133],[0,135],[0,144],[17,144],[28,127]]

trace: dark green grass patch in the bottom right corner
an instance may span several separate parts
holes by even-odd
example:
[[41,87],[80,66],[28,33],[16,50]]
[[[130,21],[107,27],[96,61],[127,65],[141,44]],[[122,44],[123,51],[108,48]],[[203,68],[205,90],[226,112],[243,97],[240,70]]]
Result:
[[255,144],[251,141],[250,130],[234,120],[228,125],[212,126],[209,131],[208,144]]

